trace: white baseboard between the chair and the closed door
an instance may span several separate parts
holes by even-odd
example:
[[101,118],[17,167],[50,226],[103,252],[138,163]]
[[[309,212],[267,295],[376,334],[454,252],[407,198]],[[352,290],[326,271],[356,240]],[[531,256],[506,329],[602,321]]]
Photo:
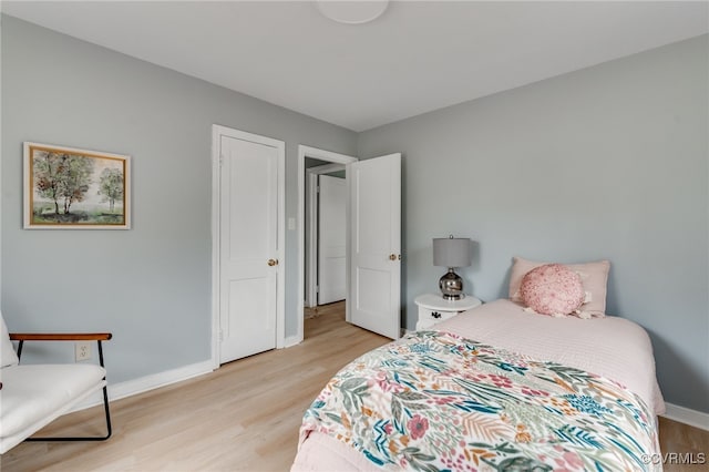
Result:
[[[109,400],[120,400],[122,398],[143,393],[172,383],[182,382],[193,377],[204,376],[214,371],[214,365],[210,360],[205,362],[192,363],[177,369],[166,370],[164,372],[153,373],[141,377],[138,379],[127,380],[120,383],[111,383],[109,377]],[[72,411],[83,410],[96,404],[103,403],[103,397],[93,396],[85,401],[76,404]]]

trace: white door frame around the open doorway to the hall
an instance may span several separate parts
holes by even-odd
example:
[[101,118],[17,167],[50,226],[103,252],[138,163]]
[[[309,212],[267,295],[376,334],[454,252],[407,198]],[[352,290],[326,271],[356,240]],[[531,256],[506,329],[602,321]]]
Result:
[[[333,164],[347,165],[359,161],[354,156],[333,153],[317,147],[298,145],[298,332],[289,345],[297,345],[304,339],[304,317],[305,317],[305,208],[306,208],[306,157],[317,158]],[[349,259],[349,257],[348,257]]]

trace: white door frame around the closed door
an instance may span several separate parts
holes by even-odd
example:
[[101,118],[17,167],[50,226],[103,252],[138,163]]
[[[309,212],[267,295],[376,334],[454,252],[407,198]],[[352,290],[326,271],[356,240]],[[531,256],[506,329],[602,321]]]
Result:
[[222,208],[219,197],[222,195],[219,142],[222,136],[235,137],[237,140],[251,141],[258,144],[274,146],[278,151],[278,215],[276,218],[277,244],[278,244],[278,275],[276,278],[276,349],[285,346],[286,324],[286,143],[273,137],[259,134],[247,133],[218,124],[212,125],[212,365],[214,369],[219,368],[219,343],[220,343],[220,215]]

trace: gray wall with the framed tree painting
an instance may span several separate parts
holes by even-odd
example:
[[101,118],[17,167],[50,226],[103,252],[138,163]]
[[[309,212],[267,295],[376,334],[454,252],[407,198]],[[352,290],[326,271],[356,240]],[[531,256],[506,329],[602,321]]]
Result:
[[[295,73],[296,71],[294,71]],[[111,381],[210,357],[212,124],[353,154],[357,135],[2,16],[2,312],[13,330],[111,330]],[[22,142],[132,156],[133,229],[23,230]],[[286,235],[286,335],[297,237]]]

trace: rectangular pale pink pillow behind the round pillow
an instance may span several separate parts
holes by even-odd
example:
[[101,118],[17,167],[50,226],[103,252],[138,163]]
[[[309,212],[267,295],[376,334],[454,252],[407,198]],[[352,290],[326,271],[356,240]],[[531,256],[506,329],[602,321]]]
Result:
[[[521,302],[520,286],[522,285],[522,278],[530,270],[549,263],[537,263],[522,257],[514,257],[513,261],[512,274],[510,275],[510,299]],[[586,264],[565,264],[565,266],[580,276],[584,290],[586,290],[586,302],[582,310],[594,317],[606,316],[606,285],[608,283],[610,263],[608,260],[598,260]]]

